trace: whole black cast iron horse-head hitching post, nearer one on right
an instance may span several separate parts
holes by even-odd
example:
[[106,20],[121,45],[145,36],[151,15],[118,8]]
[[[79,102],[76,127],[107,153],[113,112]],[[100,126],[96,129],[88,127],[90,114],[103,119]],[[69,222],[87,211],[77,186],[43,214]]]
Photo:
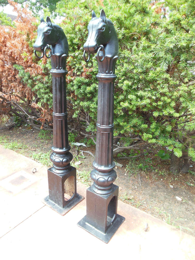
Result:
[[[106,18],[103,10],[100,18],[92,11],[83,57],[88,62],[90,53],[97,53],[98,61],[96,152],[91,172],[94,183],[87,189],[87,214],[78,225],[106,243],[125,220],[117,214],[119,187],[113,184],[116,179],[113,162],[114,81],[118,50],[113,23]],[[87,60],[86,52],[89,53]]]

